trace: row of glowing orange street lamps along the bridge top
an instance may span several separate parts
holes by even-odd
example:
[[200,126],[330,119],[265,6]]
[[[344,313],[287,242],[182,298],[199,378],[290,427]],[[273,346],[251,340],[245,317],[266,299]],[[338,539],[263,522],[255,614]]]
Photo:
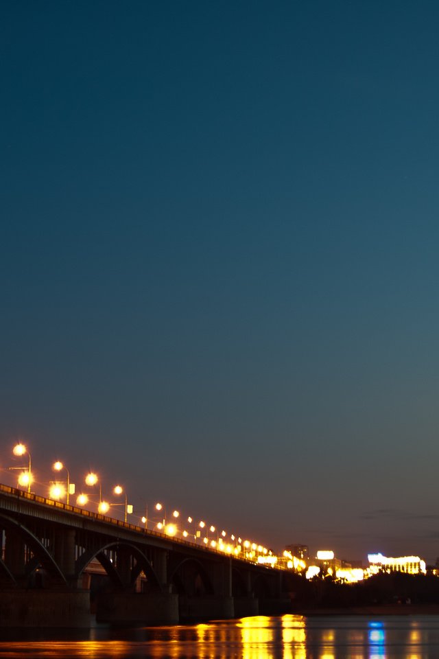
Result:
[[[18,478],[19,485],[21,487],[27,488],[27,492],[30,493],[31,485],[32,485],[32,481],[33,481],[31,454],[29,453],[29,450],[27,450],[27,447],[21,442],[16,444],[16,446],[14,446],[12,452],[15,456],[24,456],[25,454],[27,454],[28,461],[29,461],[27,466],[25,466],[25,467],[10,467],[10,470],[21,470],[21,472],[19,474],[19,478]],[[75,485],[73,483],[71,483],[70,472],[67,469],[67,467],[60,461],[56,461],[52,465],[52,469],[56,472],[62,472],[64,470],[67,474],[67,480],[66,481],[52,482],[51,487],[49,489],[49,496],[50,496],[51,499],[54,499],[54,500],[60,500],[60,499],[65,497],[66,500],[67,500],[67,505],[69,505],[70,495],[75,494]],[[93,472],[90,472],[89,474],[87,474],[86,478],[85,478],[85,484],[88,487],[94,487],[95,485],[99,486],[99,495],[98,495],[99,496],[99,502],[98,502],[98,505],[97,505],[97,509],[98,509],[99,513],[105,515],[109,511],[110,507],[121,505],[121,506],[124,507],[124,513],[125,513],[124,518],[125,518],[125,521],[127,521],[127,516],[132,514],[132,512],[133,512],[133,507],[132,507],[132,505],[128,504],[127,494],[126,494],[125,490],[123,489],[123,487],[121,487],[121,485],[116,485],[112,489],[112,492],[116,496],[120,496],[121,494],[124,494],[125,495],[125,501],[123,503],[111,503],[110,504],[108,501],[106,501],[102,498],[102,483],[101,483],[101,481],[99,481],[99,478],[98,478],[97,474],[95,474]],[[76,504],[78,506],[84,507],[85,505],[87,505],[90,498],[93,497],[93,496],[97,496],[97,495],[81,493],[76,498]],[[177,533],[178,533],[178,524],[176,522],[177,522],[178,518],[180,517],[180,512],[178,510],[174,510],[172,512],[173,522],[167,523],[166,509],[163,506],[163,504],[158,502],[158,503],[156,503],[154,508],[156,509],[156,511],[158,513],[163,513],[162,520],[156,523],[156,529],[158,531],[161,531],[161,532],[165,533],[166,535],[171,536],[171,537],[174,537],[175,535],[177,535]],[[148,517],[147,517],[147,511],[146,511],[146,516],[143,516],[141,518],[141,521],[142,521],[143,524],[145,524],[145,529],[146,529],[147,528],[147,523],[148,523],[148,521],[150,521],[150,520],[148,520]],[[185,539],[187,539],[188,537],[193,537],[193,540],[196,542],[198,540],[198,538],[202,537],[202,533],[205,533],[204,537],[202,538],[202,543],[206,546],[210,546],[213,549],[216,548],[219,551],[224,551],[224,552],[229,553],[229,554],[233,553],[235,555],[241,555],[241,553],[242,553],[243,557],[245,557],[247,559],[250,559],[250,560],[258,560],[258,558],[261,557],[261,556],[266,556],[266,555],[271,556],[272,555],[272,551],[268,550],[266,547],[263,547],[260,544],[256,544],[255,542],[250,542],[250,540],[244,540],[244,542],[243,542],[241,537],[237,537],[233,534],[230,535],[231,542],[226,542],[227,533],[226,533],[226,531],[224,531],[224,529],[221,531],[221,533],[219,533],[219,531],[217,531],[217,529],[215,528],[215,526],[213,524],[211,524],[211,526],[209,527],[206,524],[206,522],[204,522],[203,520],[198,522],[198,524],[197,524],[198,528],[196,530],[195,530],[195,522],[194,522],[194,520],[191,516],[189,516],[187,518],[187,522],[188,522],[189,525],[193,524],[194,529],[193,529],[192,533],[189,533],[189,531],[187,531],[187,529],[184,529],[181,532],[182,537],[185,538]],[[215,540],[213,538],[209,541],[209,532],[210,533],[215,533],[215,531],[217,532],[217,539]]]

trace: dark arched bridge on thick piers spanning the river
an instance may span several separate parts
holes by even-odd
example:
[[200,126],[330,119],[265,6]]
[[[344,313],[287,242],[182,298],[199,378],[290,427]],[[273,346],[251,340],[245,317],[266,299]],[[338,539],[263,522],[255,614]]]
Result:
[[0,626],[154,625],[287,610],[294,575],[0,484]]

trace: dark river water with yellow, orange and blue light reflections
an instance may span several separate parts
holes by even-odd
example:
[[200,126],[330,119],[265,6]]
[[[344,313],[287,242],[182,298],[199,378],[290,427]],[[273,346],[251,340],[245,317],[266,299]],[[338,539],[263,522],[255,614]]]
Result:
[[439,616],[281,616],[84,631],[1,630],[0,659],[438,659]]

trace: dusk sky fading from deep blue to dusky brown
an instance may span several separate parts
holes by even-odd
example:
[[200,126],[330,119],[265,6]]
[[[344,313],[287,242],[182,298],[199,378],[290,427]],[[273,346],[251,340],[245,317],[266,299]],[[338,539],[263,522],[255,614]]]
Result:
[[438,3],[0,12],[0,465],[433,562]]

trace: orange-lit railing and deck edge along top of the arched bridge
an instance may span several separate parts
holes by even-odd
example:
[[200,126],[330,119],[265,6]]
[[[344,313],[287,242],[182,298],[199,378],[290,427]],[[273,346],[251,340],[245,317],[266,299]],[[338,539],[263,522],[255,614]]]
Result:
[[[135,531],[136,533],[141,533],[142,535],[152,535],[155,537],[160,537],[162,540],[168,540],[169,542],[174,542],[176,544],[181,544],[183,546],[192,546],[196,547],[198,550],[207,551],[209,553],[215,553],[217,555],[228,555],[224,551],[211,548],[209,546],[203,546],[202,544],[196,544],[190,540],[182,540],[180,537],[172,536],[170,537],[166,533],[160,533],[159,531],[153,531],[152,529],[145,529],[144,527],[139,527],[137,524],[130,524],[130,522],[123,522],[122,520],[115,520],[115,518],[107,517],[101,513],[93,513],[91,510],[86,508],[80,508],[78,506],[71,506],[70,504],[63,503],[62,501],[55,501],[54,499],[49,499],[40,494],[34,494],[34,492],[25,492],[23,489],[17,489],[16,487],[11,487],[10,485],[3,485],[0,483],[0,492],[5,492],[5,494],[11,494],[17,498],[27,499],[29,501],[34,501],[46,506],[53,508],[59,508],[64,511],[74,513],[75,515],[82,515],[92,520],[97,520],[99,522],[106,522],[106,524],[112,524],[113,526],[122,527],[123,529],[128,529],[129,531]],[[245,561],[252,565],[255,564],[254,561],[244,558],[243,556],[230,555],[231,558],[238,559],[240,561]],[[262,565],[262,567],[272,568],[272,566]],[[276,566],[277,569],[282,569],[281,566]]]

